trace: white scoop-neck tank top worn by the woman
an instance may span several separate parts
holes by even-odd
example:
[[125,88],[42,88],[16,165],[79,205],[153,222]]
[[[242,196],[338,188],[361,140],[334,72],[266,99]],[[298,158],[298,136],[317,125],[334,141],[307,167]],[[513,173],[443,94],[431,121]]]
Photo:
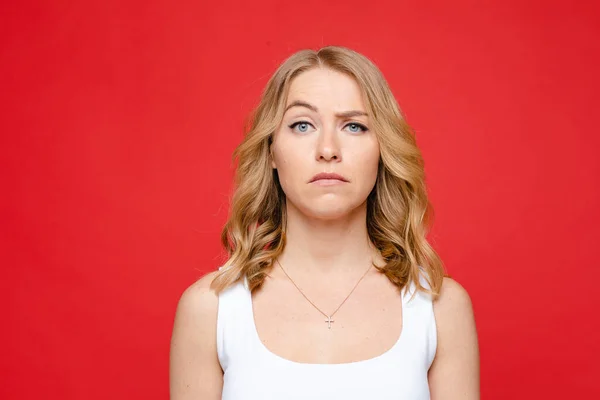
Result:
[[[422,284],[426,284],[423,280]],[[261,342],[252,297],[241,281],[219,295],[217,353],[223,400],[429,399],[427,371],[437,346],[430,296],[402,292],[402,332],[385,353],[342,364],[285,359]]]

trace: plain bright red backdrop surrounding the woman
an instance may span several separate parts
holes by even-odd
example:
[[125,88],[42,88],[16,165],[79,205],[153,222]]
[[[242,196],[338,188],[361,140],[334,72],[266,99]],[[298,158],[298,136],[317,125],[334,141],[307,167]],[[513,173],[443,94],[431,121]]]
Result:
[[327,44],[374,60],[416,128],[483,398],[600,398],[594,3],[3,3],[0,398],[167,398],[244,117]]

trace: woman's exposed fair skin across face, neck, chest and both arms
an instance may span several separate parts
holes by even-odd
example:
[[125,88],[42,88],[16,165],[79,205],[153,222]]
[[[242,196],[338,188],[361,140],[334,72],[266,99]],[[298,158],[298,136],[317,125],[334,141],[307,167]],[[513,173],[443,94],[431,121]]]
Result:
[[[287,245],[264,287],[253,294],[256,328],[266,349],[293,362],[346,363],[378,356],[398,340],[398,289],[370,268],[383,264],[366,229],[366,198],[377,177],[379,144],[358,84],[324,68],[306,71],[290,87],[283,121],[271,147],[287,198]],[[346,182],[311,182],[335,172]],[[326,313],[332,329],[299,293]],[[171,341],[171,399],[220,399],[217,359],[218,297],[211,273],[179,301]],[[438,347],[429,370],[434,400],[479,398],[479,354],[471,301],[444,278],[434,302]]]

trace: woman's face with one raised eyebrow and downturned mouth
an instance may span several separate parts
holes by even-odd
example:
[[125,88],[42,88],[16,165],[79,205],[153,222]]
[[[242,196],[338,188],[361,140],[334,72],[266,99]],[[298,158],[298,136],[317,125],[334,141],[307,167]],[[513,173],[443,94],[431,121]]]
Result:
[[379,165],[379,142],[370,128],[353,78],[326,68],[295,77],[271,145],[272,166],[287,202],[324,219],[362,205]]

